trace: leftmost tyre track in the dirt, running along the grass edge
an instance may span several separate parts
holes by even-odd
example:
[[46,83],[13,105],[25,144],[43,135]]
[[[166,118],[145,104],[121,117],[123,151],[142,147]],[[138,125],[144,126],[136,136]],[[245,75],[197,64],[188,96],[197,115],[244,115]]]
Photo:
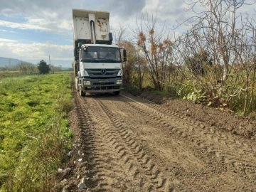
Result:
[[107,181],[109,181],[109,177],[106,176],[106,173],[111,174],[112,169],[104,165],[106,161],[109,161],[106,157],[111,157],[111,153],[105,143],[102,142],[102,139],[99,136],[96,137],[96,129],[92,124],[92,118],[85,102],[79,96],[76,99],[82,136],[82,151],[85,152],[86,172],[83,176],[88,178],[85,181],[85,186],[94,189],[93,191],[107,191],[107,188],[110,187],[108,187],[109,183]]

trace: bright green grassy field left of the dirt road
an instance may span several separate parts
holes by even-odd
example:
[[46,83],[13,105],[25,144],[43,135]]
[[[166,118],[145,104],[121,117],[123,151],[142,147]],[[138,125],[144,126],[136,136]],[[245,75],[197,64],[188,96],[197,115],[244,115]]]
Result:
[[0,191],[48,191],[70,148],[70,72],[0,79]]

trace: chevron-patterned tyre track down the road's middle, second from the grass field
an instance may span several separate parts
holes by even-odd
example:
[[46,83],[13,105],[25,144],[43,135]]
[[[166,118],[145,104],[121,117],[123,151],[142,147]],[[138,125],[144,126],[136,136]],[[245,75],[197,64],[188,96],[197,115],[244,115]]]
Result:
[[134,140],[132,132],[127,131],[127,127],[124,127],[100,100],[93,102],[96,102],[110,119],[111,124],[106,127],[97,113],[92,112],[105,128],[105,134],[120,159],[123,159],[123,164],[127,165],[127,171],[132,171],[132,178],[138,179],[137,190],[140,188],[139,191],[174,191],[174,183],[164,177],[142,146]]

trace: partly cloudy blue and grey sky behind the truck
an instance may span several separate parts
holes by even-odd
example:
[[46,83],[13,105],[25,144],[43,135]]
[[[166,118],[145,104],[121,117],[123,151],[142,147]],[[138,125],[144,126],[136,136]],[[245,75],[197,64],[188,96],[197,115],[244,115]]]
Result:
[[52,65],[63,67],[73,62],[72,9],[110,11],[112,31],[121,24],[131,36],[142,15],[157,14],[159,28],[173,28],[176,20],[191,16],[183,0],[0,0],[0,5],[0,57],[36,64],[42,59],[49,63],[50,55]]

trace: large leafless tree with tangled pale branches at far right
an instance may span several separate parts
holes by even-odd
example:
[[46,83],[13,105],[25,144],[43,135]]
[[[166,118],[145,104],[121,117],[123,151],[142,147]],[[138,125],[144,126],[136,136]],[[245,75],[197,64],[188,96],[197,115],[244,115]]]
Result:
[[[203,74],[183,66],[183,77],[197,90],[205,90],[208,101],[215,105],[235,108],[242,102],[246,114],[252,107],[255,86],[255,19],[240,13],[247,5],[244,0],[193,0],[189,5],[196,16],[184,22],[190,29],[176,38],[176,60],[180,65],[186,61],[194,65],[195,59],[188,58],[203,52],[212,65],[196,60]],[[198,5],[203,7],[199,13],[194,9]]]

